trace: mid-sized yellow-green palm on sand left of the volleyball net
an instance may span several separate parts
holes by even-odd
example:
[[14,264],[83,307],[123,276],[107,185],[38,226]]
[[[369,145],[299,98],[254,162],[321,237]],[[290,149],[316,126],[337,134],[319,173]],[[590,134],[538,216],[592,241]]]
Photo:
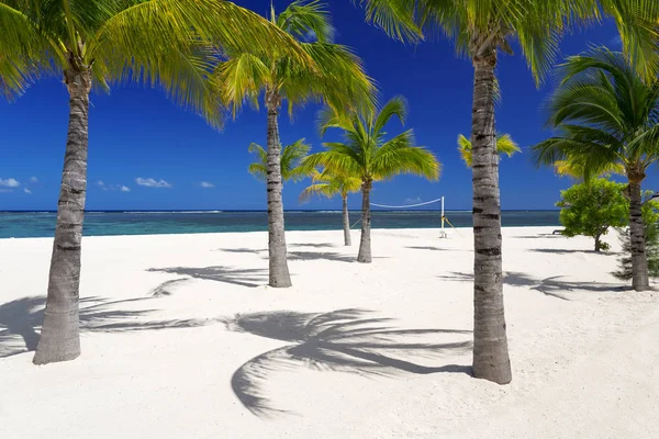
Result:
[[330,142],[327,150],[304,159],[309,167],[324,166],[361,179],[361,241],[357,261],[371,262],[370,191],[373,181],[388,180],[400,173],[413,173],[429,180],[439,179],[439,162],[433,153],[416,146],[412,130],[384,139],[384,126],[392,117],[404,123],[407,105],[402,97],[392,98],[379,111],[359,114],[337,113],[328,109],[321,116],[321,132],[343,130],[346,143]]

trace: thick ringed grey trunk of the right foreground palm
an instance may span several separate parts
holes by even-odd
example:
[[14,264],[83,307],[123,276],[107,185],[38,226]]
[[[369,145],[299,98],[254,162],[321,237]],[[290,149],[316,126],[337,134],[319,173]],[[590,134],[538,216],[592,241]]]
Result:
[[473,375],[507,384],[511,361],[503,312],[499,160],[494,130],[496,50],[473,57]]

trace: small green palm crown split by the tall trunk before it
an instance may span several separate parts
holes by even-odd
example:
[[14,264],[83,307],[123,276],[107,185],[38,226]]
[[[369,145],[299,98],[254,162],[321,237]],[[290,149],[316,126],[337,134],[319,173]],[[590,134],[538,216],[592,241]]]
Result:
[[[247,170],[258,180],[267,181],[268,179],[268,151],[263,146],[252,143],[249,153],[256,155],[257,161],[249,165]],[[300,138],[294,143],[287,145],[281,151],[279,159],[281,167],[281,181],[299,181],[309,176],[300,162],[309,151],[311,145],[304,143],[304,138]]]

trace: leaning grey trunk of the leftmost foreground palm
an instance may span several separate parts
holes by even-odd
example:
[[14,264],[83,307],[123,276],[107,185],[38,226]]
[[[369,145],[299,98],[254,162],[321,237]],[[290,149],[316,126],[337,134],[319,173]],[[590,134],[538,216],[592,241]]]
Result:
[[69,126],[57,203],[48,294],[33,362],[68,361],[80,354],[78,316],[82,219],[87,195],[87,140],[91,74],[68,68]]

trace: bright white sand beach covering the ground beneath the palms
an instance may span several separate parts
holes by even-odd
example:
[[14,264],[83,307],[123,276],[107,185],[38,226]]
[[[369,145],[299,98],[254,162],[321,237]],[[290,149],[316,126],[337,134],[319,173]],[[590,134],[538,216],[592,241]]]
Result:
[[82,356],[46,367],[51,240],[0,240],[0,438],[659,437],[658,294],[551,229],[504,229],[507,386],[463,372],[469,230],[373,230],[370,266],[289,233],[288,290],[264,233],[89,237]]

